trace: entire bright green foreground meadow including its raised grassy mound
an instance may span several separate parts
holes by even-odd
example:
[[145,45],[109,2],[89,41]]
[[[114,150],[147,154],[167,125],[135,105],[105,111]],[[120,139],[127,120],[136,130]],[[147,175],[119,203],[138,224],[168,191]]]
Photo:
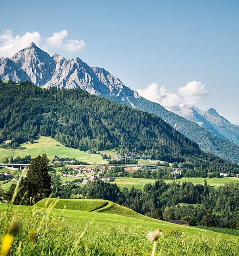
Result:
[[8,255],[149,256],[153,242],[147,234],[159,228],[163,235],[155,255],[238,255],[237,236],[151,219],[109,201],[90,201],[52,198],[33,206],[0,204],[2,241],[15,227]]

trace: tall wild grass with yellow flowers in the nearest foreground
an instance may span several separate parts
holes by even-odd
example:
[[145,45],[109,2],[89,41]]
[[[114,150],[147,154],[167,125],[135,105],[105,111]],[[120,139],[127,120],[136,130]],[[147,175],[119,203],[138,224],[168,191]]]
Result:
[[[82,224],[57,214],[54,205],[42,208],[0,204],[0,237],[13,236],[8,255],[151,255],[152,241],[147,234],[155,223],[98,225],[88,219]],[[79,212],[80,214],[80,212]],[[60,216],[61,215],[61,216]],[[117,218],[117,216],[115,217]],[[160,222],[159,222],[160,224]],[[159,227],[160,228],[160,227]],[[224,235],[210,236],[208,231],[189,235],[178,228],[162,230],[156,244],[156,255],[238,255],[239,239]]]

